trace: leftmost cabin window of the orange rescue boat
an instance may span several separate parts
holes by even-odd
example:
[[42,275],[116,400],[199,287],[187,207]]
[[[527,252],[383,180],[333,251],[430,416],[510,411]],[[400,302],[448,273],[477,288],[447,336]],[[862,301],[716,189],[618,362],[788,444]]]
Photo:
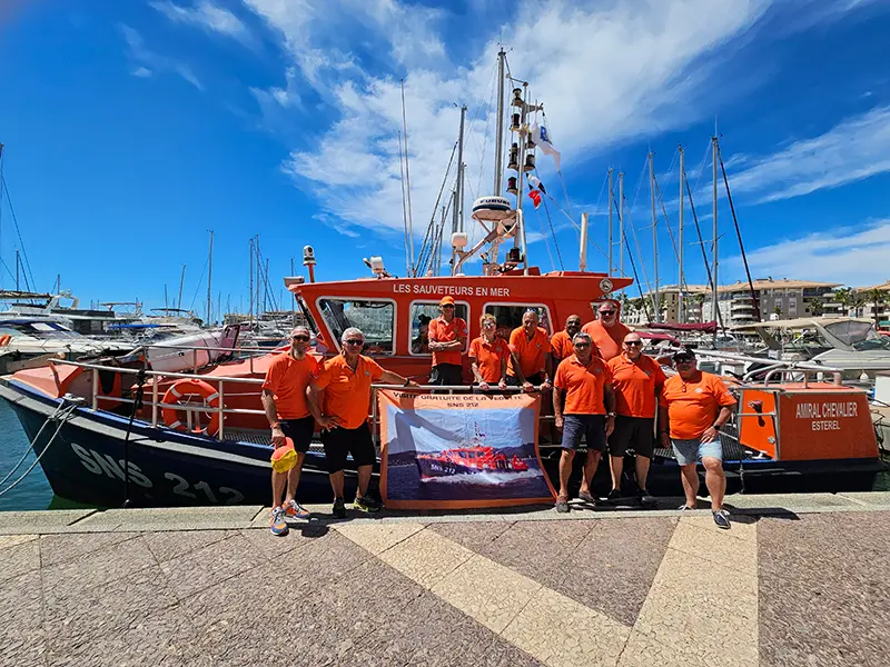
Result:
[[349,327],[365,335],[363,352],[372,357],[392,355],[395,350],[395,303],[352,299],[318,299],[318,310],[339,347],[343,332]]

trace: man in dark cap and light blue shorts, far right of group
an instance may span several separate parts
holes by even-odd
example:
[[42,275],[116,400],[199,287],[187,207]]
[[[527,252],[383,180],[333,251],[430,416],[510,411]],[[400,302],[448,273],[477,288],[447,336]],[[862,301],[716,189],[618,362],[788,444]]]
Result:
[[699,370],[692,350],[674,355],[674,365],[676,375],[664,384],[661,395],[659,427],[662,444],[673,448],[680,464],[686,495],[686,502],[680,509],[694,509],[698,504],[695,464],[701,459],[714,522],[720,528],[729,528],[729,512],[723,509],[726,476],[719,431],[732,416],[735,398],[718,376]]

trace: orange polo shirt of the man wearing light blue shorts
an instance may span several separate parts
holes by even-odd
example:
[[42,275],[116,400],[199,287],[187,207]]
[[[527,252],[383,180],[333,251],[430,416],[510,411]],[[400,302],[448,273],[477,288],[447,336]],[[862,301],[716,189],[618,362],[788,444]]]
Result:
[[661,401],[668,406],[671,437],[694,440],[713,426],[721,407],[735,405],[735,397],[718,376],[699,371],[699,379],[691,382],[679,375],[669,378]]

